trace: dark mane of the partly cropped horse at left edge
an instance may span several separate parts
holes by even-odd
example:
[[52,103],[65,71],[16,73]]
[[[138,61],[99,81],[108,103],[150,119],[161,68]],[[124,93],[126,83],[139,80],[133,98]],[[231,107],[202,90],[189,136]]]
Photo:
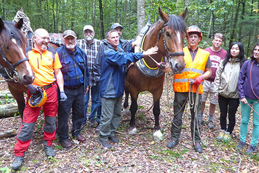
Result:
[[4,28],[1,30],[0,37],[0,46],[3,51],[8,48],[11,44],[12,39],[15,39],[18,46],[26,45],[26,37],[21,33],[21,30],[15,27],[15,24],[12,21],[3,21]]

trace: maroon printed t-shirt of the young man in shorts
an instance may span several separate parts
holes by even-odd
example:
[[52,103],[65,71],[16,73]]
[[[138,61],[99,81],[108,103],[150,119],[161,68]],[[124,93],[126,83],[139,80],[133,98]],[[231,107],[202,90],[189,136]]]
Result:
[[215,80],[215,72],[218,69],[218,66],[220,65],[221,60],[223,60],[226,55],[227,51],[225,51],[223,48],[220,48],[220,51],[212,51],[211,47],[206,48],[205,51],[209,52],[209,58],[211,59],[212,66],[211,66],[211,77],[209,77],[207,80],[209,82],[214,82]]

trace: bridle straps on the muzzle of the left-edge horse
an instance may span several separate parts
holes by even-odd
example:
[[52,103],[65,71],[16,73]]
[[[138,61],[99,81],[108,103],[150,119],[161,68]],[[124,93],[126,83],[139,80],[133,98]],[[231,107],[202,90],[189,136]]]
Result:
[[16,62],[14,65],[12,65],[8,59],[6,58],[6,56],[4,55],[3,53],[3,50],[0,46],[0,54],[3,58],[3,61],[6,62],[9,66],[10,66],[10,72],[6,69],[6,67],[4,67],[4,69],[6,70],[6,73],[8,75],[8,77],[11,79],[11,80],[14,80],[15,82],[19,82],[19,75],[15,69],[16,66],[18,66],[19,64],[21,64],[21,62],[24,62],[24,61],[28,61],[29,59],[28,58],[23,58],[22,60],[19,60],[18,62]]

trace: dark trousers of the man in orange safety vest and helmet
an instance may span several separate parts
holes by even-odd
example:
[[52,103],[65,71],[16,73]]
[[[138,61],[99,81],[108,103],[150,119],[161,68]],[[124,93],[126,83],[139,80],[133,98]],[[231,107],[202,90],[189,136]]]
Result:
[[[192,94],[192,93],[191,93]],[[186,106],[186,99],[188,99],[189,93],[179,93],[175,92],[175,100],[173,101],[173,112],[174,112],[174,117],[173,117],[173,122],[172,122],[172,127],[171,127],[171,139],[172,140],[179,140],[180,138],[180,133],[182,130],[182,115],[184,113],[184,109]],[[196,93],[193,95],[194,102],[196,100]],[[202,108],[202,95],[198,95],[198,109],[197,109],[197,115],[200,113],[201,108]],[[196,117],[197,119],[198,117]],[[194,127],[195,125],[195,127]],[[200,122],[198,120],[195,120],[195,112],[194,112],[194,105],[193,108],[191,109],[191,136],[193,138],[193,130],[194,130],[194,143],[200,143]]]

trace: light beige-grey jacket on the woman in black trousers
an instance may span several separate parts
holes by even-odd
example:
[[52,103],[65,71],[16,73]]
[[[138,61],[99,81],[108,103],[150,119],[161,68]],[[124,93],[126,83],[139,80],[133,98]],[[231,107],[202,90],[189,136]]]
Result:
[[238,98],[238,75],[240,73],[240,60],[230,59],[223,70],[223,62],[216,71],[213,93],[224,98]]

